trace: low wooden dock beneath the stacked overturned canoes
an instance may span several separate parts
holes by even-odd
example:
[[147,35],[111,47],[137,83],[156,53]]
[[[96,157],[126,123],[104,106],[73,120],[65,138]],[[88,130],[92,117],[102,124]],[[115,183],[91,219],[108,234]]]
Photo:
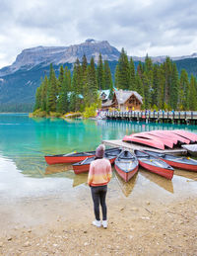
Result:
[[182,147],[176,147],[172,149],[158,149],[158,148],[153,148],[149,146],[144,146],[140,145],[137,143],[129,143],[129,142],[124,142],[121,139],[116,139],[116,140],[102,140],[102,143],[105,144],[106,146],[111,146],[111,147],[122,147],[124,149],[128,149],[130,151],[134,151],[135,149],[137,150],[152,150],[155,152],[162,152],[165,154],[173,154],[173,155],[186,155],[187,150],[182,148]]

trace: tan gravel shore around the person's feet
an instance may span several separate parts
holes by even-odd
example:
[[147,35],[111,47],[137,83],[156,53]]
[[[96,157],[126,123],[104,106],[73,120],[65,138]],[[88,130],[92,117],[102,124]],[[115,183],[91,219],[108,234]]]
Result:
[[[91,224],[91,200],[78,209],[54,203],[34,223],[1,214],[0,255],[197,255],[197,196],[142,206],[109,200],[107,229]],[[26,207],[38,216],[41,206],[42,201]]]

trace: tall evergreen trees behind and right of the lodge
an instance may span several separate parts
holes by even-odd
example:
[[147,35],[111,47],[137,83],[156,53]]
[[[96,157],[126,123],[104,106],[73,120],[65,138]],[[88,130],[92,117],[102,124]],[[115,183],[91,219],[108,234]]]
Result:
[[147,55],[137,70],[132,57],[122,49],[115,70],[115,86],[137,91],[143,97],[143,109],[197,110],[197,80],[185,69],[178,74],[176,64],[166,57],[164,63],[153,63]]

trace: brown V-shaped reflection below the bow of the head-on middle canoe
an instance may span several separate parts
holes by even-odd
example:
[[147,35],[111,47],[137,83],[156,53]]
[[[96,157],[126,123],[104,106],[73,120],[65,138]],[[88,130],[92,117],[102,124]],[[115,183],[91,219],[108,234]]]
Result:
[[131,178],[130,181],[128,182],[125,182],[118,174],[116,171],[114,171],[115,173],[115,178],[116,178],[116,181],[122,191],[122,193],[124,194],[125,197],[128,197],[133,189],[134,189],[134,186],[137,182],[137,177],[138,177],[138,172]]

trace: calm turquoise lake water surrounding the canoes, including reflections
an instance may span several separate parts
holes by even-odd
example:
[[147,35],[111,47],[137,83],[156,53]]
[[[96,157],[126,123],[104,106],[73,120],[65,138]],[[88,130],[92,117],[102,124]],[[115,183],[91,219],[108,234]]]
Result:
[[[75,195],[88,189],[87,174],[75,175],[70,165],[47,166],[47,153],[95,150],[102,139],[120,139],[132,132],[181,128],[197,132],[195,126],[156,125],[136,122],[63,121],[29,119],[28,115],[0,114],[0,199],[62,194]],[[175,171],[172,181],[145,170],[125,184],[115,171],[110,183],[114,197],[163,198],[197,193],[197,175]],[[148,194],[147,194],[148,193]],[[111,194],[111,197],[113,194]],[[170,196],[169,196],[170,195]]]

